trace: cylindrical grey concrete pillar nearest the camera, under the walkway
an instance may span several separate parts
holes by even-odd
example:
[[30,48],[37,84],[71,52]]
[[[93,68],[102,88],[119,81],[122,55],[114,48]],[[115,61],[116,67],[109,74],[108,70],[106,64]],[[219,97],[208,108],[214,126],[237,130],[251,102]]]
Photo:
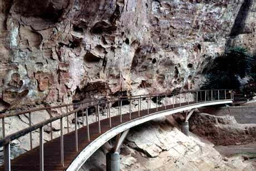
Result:
[[107,171],[120,171],[119,152],[107,153],[106,155]]

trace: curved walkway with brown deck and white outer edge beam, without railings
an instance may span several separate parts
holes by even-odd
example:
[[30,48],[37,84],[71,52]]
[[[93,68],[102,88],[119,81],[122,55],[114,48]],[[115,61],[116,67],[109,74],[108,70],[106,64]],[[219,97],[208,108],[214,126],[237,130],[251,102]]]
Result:
[[[197,92],[196,98],[198,98]],[[226,103],[233,103],[233,100],[232,97],[227,98],[226,94],[224,94],[222,100],[220,98],[218,98],[218,100],[213,100],[213,96],[211,96],[211,99],[209,98],[209,100],[206,100],[205,98],[205,100],[202,101],[196,100],[196,102],[191,101],[171,104],[158,108],[140,110],[140,112],[131,112],[131,114],[126,113],[116,115],[111,117],[111,127],[109,118],[102,119],[100,122],[98,120],[98,122],[89,124],[88,128],[82,127],[77,129],[77,132],[73,131],[63,135],[63,154],[61,154],[60,150],[62,143],[61,137],[58,137],[50,142],[44,143],[43,149],[42,147],[33,148],[11,160],[11,170],[40,170],[40,165],[43,165],[44,170],[78,170],[90,155],[101,147],[101,145],[115,137],[115,135],[124,132],[126,129],[158,117],[182,112],[184,110]],[[90,130],[89,134],[87,133],[87,130]],[[90,141],[88,141],[88,135],[90,135]],[[0,144],[4,144],[4,142],[0,141]],[[76,144],[78,144],[78,147]],[[43,163],[42,158],[40,158],[42,152]],[[63,156],[64,165],[61,164],[61,156]],[[3,169],[4,166],[0,168],[0,170]]]

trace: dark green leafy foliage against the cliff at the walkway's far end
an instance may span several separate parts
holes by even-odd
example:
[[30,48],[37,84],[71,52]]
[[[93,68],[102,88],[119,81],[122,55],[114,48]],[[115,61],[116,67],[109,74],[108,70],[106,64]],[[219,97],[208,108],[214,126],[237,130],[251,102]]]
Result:
[[230,48],[223,56],[215,59],[213,68],[206,74],[202,89],[239,89],[238,77],[256,76],[253,71],[255,57],[247,53],[243,47]]

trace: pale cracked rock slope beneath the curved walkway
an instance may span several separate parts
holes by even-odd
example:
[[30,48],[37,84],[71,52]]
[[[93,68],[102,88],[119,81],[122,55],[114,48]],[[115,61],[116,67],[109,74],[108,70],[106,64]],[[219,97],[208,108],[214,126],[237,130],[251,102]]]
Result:
[[[97,150],[80,170],[105,170],[105,153]],[[229,160],[213,144],[186,137],[164,118],[132,129],[120,154],[121,170],[254,170],[249,161]]]

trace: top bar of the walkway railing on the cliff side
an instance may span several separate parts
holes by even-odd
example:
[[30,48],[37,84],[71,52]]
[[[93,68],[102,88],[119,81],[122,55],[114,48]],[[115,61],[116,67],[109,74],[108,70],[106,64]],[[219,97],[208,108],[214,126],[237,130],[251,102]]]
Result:
[[40,111],[40,110],[56,109],[56,108],[69,107],[69,106],[72,106],[72,105],[86,104],[86,103],[92,103],[92,102],[98,102],[99,103],[99,100],[101,100],[101,101],[106,100],[104,102],[101,102],[101,104],[104,104],[104,103],[109,103],[109,102],[110,103],[116,102],[115,99],[117,99],[117,100],[126,99],[126,98],[139,99],[139,98],[146,98],[146,97],[155,97],[156,95],[164,96],[164,95],[174,95],[174,94],[179,94],[179,93],[204,92],[204,91],[211,91],[211,90],[215,91],[215,90],[230,90],[230,89],[185,90],[185,91],[182,91],[182,92],[173,91],[171,93],[155,93],[155,94],[130,95],[130,96],[126,95],[126,96],[110,97],[110,98],[106,98],[106,99],[83,100],[82,102],[78,102],[78,103],[68,103],[68,104],[55,105],[55,106],[52,106],[52,107],[33,108],[33,109],[30,109],[30,110],[24,110],[24,111],[17,112],[17,113],[1,114],[0,119],[8,118],[8,117],[14,117],[14,116],[21,115],[21,114],[37,112],[37,111]]

